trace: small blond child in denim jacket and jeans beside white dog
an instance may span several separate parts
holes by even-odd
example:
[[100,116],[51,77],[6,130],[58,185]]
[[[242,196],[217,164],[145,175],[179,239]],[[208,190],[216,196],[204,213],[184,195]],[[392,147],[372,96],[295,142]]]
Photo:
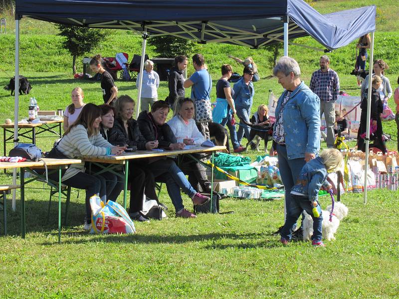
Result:
[[[313,219],[312,245],[324,247],[321,240],[323,216],[318,203],[319,190],[322,185],[331,188],[326,180],[327,175],[330,172],[338,171],[342,163],[342,154],[338,149],[325,149],[318,157],[310,160],[302,167],[295,185],[291,188],[292,201],[280,233],[281,243],[286,245],[291,240],[292,229],[304,210]],[[319,217],[313,215],[313,207],[317,208]]]

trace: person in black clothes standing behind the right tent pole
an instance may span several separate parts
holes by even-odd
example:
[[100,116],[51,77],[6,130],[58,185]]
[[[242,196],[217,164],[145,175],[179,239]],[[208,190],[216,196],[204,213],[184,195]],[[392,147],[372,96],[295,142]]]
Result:
[[[380,88],[382,83],[381,77],[374,75],[372,81],[372,94],[371,94],[371,105],[370,105],[370,140],[374,140],[374,144],[370,147],[375,147],[381,149],[383,153],[387,153],[387,147],[383,140],[383,124],[381,122],[380,114],[383,112],[383,102],[380,98]],[[365,133],[367,129],[367,93],[368,89],[363,92],[362,104],[360,104],[360,109],[362,113],[360,115],[360,125],[358,131],[358,149],[366,151],[365,145]],[[373,132],[372,126],[376,126],[377,130]]]

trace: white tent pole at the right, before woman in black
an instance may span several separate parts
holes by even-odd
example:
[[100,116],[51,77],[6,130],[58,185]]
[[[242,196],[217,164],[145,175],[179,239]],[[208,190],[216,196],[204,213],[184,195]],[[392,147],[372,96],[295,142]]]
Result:
[[[370,57],[369,57],[369,74],[373,74],[373,55],[374,55],[374,31],[371,33],[371,45],[370,45]],[[364,181],[364,192],[363,192],[363,202],[367,204],[367,168],[369,166],[369,143],[370,143],[370,111],[371,111],[371,85],[372,76],[369,75],[367,94],[367,123],[366,123],[366,155],[365,155],[365,181]]]

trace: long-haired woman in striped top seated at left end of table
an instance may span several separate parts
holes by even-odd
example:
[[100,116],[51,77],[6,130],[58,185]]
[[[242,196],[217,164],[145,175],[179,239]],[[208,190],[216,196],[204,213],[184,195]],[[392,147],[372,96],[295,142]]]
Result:
[[[80,158],[86,155],[121,154],[125,147],[114,147],[100,134],[101,109],[94,104],[86,104],[78,119],[65,131],[57,149],[69,158]],[[57,180],[58,174],[52,179]],[[84,228],[91,228],[91,208],[89,199],[99,195],[106,201],[106,193],[115,187],[116,175],[104,172],[100,175],[85,172],[84,162],[72,164],[63,170],[61,181],[64,185],[86,190],[86,218]],[[107,190],[108,188],[108,190]]]

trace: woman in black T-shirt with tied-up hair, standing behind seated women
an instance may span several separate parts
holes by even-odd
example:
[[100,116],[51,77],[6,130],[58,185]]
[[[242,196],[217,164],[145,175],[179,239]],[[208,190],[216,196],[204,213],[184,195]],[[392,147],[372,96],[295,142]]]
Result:
[[100,54],[91,58],[90,69],[95,73],[101,74],[101,89],[103,92],[104,103],[113,106],[117,99],[116,96],[118,94],[118,88],[115,86],[111,74],[104,69]]

